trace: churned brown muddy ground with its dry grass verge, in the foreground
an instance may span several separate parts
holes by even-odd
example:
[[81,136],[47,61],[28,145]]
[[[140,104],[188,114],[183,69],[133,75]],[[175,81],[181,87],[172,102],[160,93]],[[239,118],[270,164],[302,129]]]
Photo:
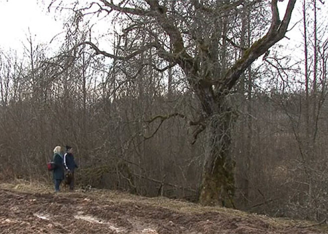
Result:
[[[0,234],[316,234],[318,226],[118,192],[0,188]],[[320,231],[321,230],[321,231]]]

